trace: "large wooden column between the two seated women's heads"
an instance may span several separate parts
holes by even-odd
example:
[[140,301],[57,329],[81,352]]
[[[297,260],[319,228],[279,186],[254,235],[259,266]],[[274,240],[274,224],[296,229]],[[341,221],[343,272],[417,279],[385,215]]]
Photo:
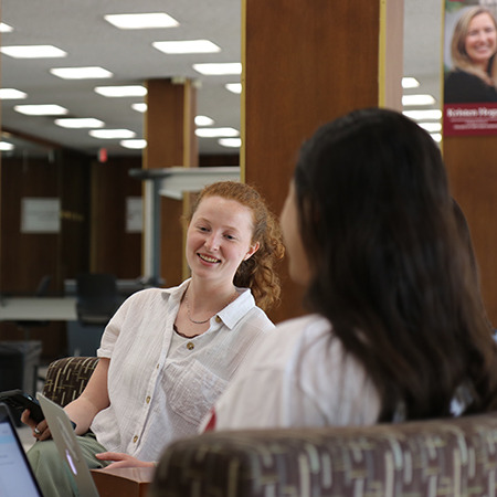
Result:
[[[359,107],[401,108],[403,0],[244,0],[242,15],[241,166],[279,213],[319,125]],[[281,274],[275,321],[303,314],[286,262]]]

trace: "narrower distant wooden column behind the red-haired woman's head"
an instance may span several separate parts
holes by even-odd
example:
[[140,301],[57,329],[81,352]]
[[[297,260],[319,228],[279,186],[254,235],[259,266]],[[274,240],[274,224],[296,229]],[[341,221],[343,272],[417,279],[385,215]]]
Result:
[[[194,135],[197,91],[191,81],[150,80],[147,83],[144,169],[198,166]],[[161,200],[161,277],[165,285],[184,276],[183,230],[180,218],[187,201]]]

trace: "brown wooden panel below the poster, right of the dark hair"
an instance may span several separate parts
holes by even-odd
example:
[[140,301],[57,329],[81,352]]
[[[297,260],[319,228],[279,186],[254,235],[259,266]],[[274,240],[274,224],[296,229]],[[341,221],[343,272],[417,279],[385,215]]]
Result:
[[497,325],[497,137],[445,137],[444,160],[454,198],[472,232],[488,317]]

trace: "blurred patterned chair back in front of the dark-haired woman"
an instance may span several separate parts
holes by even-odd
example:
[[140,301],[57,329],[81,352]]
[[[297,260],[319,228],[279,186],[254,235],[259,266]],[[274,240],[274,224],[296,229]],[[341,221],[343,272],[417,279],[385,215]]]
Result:
[[497,413],[205,433],[165,451],[149,497],[488,496],[496,441]]

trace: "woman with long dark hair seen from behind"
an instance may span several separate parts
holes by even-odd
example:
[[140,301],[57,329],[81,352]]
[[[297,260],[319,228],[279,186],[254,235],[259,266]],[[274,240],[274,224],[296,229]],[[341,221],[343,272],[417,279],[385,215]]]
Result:
[[277,326],[204,426],[370,424],[487,411],[497,359],[441,152],[352,112],[304,144],[282,213],[311,313]]

